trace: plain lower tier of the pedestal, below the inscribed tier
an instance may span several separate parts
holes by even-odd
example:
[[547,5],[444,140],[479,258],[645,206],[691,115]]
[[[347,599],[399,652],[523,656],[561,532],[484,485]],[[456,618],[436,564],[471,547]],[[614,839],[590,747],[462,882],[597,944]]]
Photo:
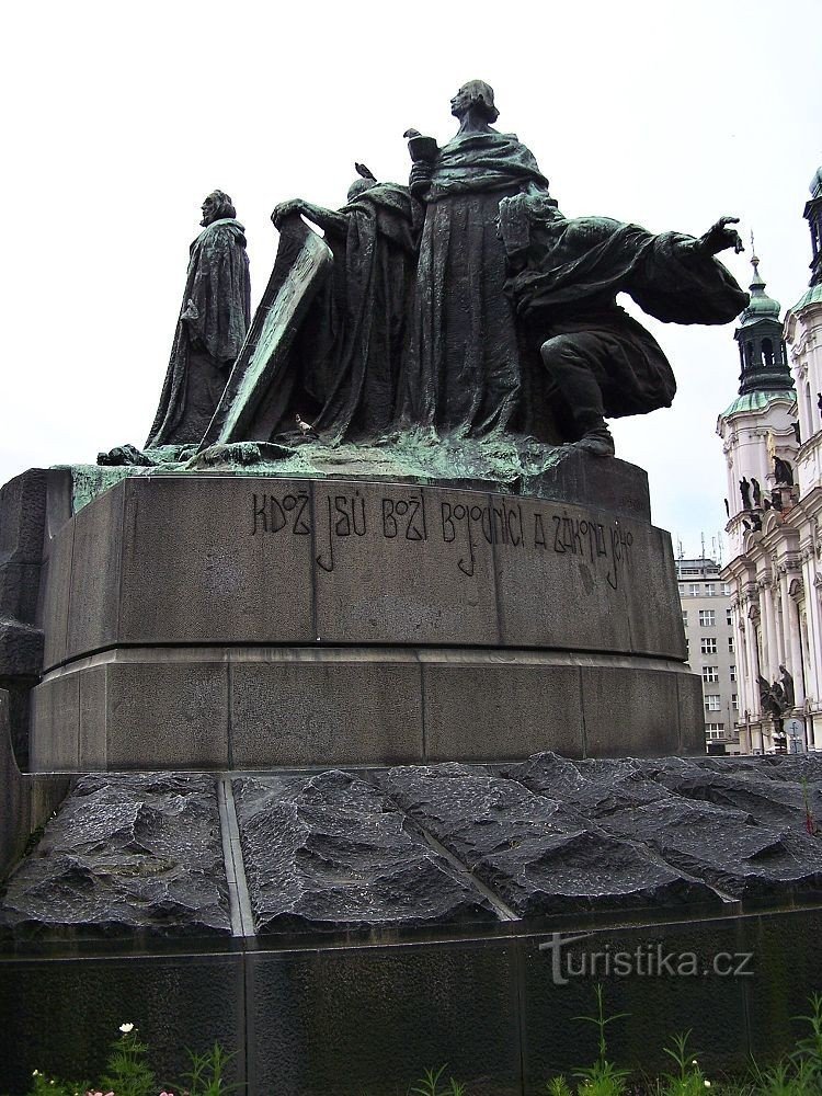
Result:
[[408,648],[112,651],[34,690],[35,772],[272,768],[705,752],[662,659]]

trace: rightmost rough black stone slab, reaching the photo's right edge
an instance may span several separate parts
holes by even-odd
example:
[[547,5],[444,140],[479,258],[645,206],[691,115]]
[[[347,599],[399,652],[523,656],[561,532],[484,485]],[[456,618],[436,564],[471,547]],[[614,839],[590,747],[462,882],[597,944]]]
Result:
[[822,814],[822,758],[571,762],[539,754],[506,774],[720,894],[822,890],[822,846],[808,832]]

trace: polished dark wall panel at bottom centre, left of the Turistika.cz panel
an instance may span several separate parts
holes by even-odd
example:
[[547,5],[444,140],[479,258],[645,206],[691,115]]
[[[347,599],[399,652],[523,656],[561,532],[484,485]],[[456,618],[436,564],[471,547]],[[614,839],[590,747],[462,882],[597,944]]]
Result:
[[503,941],[249,956],[258,1092],[396,1096],[447,1063],[471,1096],[520,1096],[514,949]]

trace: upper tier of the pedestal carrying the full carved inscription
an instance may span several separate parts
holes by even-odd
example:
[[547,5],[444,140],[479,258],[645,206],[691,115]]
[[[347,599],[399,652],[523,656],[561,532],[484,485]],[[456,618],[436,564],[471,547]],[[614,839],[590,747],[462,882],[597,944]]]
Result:
[[[684,658],[667,535],[586,499],[132,477],[60,530],[43,586],[46,669],[112,644],[195,642],[628,655],[647,604],[637,652]],[[627,602],[627,586],[642,596]]]

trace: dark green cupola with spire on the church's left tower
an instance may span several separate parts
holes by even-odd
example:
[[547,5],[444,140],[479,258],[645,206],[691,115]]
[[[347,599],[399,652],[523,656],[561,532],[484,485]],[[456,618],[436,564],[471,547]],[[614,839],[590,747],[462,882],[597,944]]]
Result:
[[[751,242],[753,244],[753,237]],[[752,255],[751,264],[754,269],[751,302],[740,316],[740,326],[733,334],[739,343],[740,396],[785,391],[794,387],[783,342],[779,301],[765,293],[756,254]]]

